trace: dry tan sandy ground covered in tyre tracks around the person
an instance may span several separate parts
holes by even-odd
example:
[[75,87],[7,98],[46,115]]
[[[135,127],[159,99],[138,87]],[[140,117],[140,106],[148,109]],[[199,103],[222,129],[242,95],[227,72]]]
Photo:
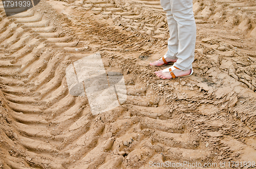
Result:
[[[148,65],[167,50],[160,1],[42,0],[9,17],[0,7],[0,168],[256,162],[255,0],[194,1],[195,73],[176,80]],[[97,115],[66,79],[95,53],[127,90]]]

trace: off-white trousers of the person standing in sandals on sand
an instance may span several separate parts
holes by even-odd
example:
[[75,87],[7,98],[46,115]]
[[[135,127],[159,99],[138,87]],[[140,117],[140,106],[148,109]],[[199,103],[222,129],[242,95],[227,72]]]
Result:
[[174,66],[188,70],[195,58],[197,28],[193,0],[160,0],[166,12],[170,38],[166,57],[177,59]]

